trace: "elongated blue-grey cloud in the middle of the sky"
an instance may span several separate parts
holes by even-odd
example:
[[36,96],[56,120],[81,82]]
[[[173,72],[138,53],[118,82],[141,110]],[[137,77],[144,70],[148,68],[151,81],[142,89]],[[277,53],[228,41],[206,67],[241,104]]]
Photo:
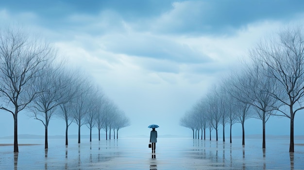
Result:
[[173,62],[206,62],[207,56],[197,52],[185,42],[173,37],[146,32],[124,32],[101,37],[106,50],[137,57],[147,57]]

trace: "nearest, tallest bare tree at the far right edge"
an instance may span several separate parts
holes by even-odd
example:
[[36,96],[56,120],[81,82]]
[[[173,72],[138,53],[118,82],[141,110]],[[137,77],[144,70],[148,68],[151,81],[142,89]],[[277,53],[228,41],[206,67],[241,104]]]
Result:
[[272,96],[286,107],[277,108],[276,115],[290,119],[289,152],[294,152],[294,118],[304,108],[304,34],[302,28],[281,31],[261,43],[254,50],[255,59],[265,66],[268,76],[274,78],[282,91]]

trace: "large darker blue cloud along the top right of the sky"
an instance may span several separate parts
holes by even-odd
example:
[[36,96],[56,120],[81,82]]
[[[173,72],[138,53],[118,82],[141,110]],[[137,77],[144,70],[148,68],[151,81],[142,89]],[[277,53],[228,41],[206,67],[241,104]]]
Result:
[[239,1],[239,0],[183,0],[172,3],[172,8],[136,22],[138,30],[161,34],[182,35],[233,35],[253,22],[289,20],[303,14],[303,1]]

